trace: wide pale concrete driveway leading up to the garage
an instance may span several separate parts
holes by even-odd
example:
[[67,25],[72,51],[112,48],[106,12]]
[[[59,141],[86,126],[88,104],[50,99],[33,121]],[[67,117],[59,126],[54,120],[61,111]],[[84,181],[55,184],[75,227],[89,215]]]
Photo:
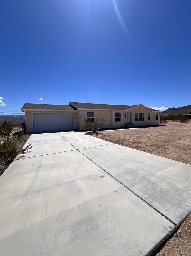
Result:
[[2,255],[148,255],[191,212],[188,164],[83,132],[29,143],[0,178]]

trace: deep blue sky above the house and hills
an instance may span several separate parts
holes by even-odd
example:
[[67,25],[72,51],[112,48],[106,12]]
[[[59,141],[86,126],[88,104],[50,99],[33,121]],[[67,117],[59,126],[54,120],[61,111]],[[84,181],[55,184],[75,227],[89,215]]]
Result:
[[190,10],[190,0],[1,0],[0,115],[25,102],[191,105]]

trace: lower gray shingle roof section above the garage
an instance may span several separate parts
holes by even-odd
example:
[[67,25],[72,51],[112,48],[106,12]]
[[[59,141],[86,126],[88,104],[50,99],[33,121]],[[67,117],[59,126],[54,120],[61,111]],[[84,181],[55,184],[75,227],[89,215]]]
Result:
[[32,103],[25,103],[22,109],[44,109],[44,110],[74,110],[69,105],[52,105],[52,104],[32,104]]

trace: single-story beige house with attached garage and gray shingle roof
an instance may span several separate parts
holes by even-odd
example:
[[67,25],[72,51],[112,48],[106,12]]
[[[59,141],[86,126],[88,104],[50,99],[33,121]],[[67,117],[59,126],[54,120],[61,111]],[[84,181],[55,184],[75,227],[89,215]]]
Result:
[[69,105],[25,103],[26,132],[85,130],[85,119],[105,119],[103,128],[159,125],[159,110],[133,106],[70,102]]

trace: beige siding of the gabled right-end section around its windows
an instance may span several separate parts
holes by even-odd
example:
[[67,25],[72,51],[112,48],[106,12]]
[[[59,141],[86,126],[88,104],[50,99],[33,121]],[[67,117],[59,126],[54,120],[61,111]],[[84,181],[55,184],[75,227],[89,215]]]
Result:
[[[133,123],[135,126],[141,126],[141,125],[159,125],[159,121],[160,121],[160,117],[159,111],[151,111],[146,107],[143,106],[137,106],[132,108],[132,120],[131,123]],[[145,120],[144,121],[135,121],[135,112],[144,112],[145,113]],[[147,114],[150,113],[151,117],[150,117],[150,121],[147,120]],[[158,121],[155,120],[155,113],[158,113]]]

